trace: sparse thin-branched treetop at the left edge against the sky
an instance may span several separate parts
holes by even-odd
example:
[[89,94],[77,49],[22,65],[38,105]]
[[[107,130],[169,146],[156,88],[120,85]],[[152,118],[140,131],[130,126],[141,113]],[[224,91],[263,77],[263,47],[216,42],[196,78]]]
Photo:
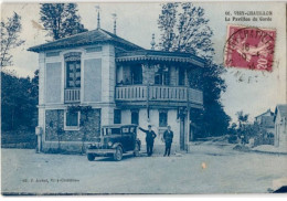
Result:
[[0,66],[12,65],[13,55],[10,54],[11,49],[20,46],[24,43],[20,39],[19,33],[22,30],[21,17],[18,13],[13,13],[11,18],[8,18],[7,21],[1,21],[1,56],[0,56]]

